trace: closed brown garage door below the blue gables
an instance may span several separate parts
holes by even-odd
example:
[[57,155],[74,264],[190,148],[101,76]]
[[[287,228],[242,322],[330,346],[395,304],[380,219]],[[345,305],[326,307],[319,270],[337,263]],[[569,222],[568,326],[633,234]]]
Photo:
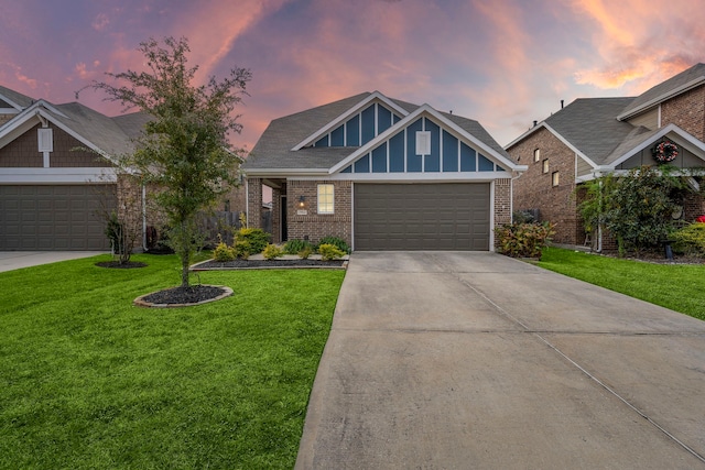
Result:
[[490,184],[355,184],[356,250],[489,250]]

